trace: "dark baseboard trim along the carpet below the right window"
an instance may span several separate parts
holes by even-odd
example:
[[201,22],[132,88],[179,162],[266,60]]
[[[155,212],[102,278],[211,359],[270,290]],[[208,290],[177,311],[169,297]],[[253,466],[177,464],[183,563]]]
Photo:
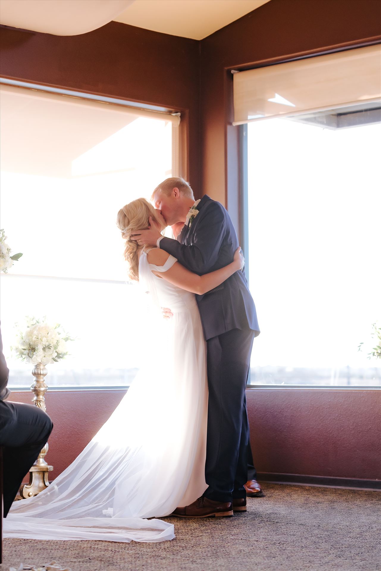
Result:
[[294,484],[381,491],[381,480],[363,480],[362,478],[335,478],[329,476],[306,476],[304,474],[258,472],[258,481],[268,482],[269,484]]

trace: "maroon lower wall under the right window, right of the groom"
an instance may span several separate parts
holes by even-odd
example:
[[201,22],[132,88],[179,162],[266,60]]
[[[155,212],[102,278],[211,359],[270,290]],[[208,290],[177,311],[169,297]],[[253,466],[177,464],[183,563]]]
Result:
[[381,392],[247,389],[259,472],[381,480]]

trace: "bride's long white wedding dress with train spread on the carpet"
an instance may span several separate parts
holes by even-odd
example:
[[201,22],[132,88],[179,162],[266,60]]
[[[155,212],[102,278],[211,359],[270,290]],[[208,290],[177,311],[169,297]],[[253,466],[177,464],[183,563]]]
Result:
[[142,297],[174,316],[161,317],[147,362],[77,459],[38,496],[13,503],[4,537],[171,540],[173,524],[147,518],[167,516],[206,489],[206,343],[198,307],[193,293],[152,272],[176,261],[170,256],[157,267],[142,253],[139,284],[149,293]]

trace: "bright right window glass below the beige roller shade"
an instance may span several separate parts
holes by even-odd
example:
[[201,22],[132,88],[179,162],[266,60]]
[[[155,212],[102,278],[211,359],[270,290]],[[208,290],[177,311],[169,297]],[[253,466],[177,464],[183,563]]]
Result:
[[247,126],[251,384],[380,384],[381,123],[345,115]]

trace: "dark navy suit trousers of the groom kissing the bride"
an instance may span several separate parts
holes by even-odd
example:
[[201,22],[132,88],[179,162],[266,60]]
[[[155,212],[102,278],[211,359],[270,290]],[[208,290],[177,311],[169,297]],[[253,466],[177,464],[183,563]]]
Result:
[[228,502],[246,497],[248,420],[246,383],[254,331],[232,329],[207,341],[208,425],[204,496]]

